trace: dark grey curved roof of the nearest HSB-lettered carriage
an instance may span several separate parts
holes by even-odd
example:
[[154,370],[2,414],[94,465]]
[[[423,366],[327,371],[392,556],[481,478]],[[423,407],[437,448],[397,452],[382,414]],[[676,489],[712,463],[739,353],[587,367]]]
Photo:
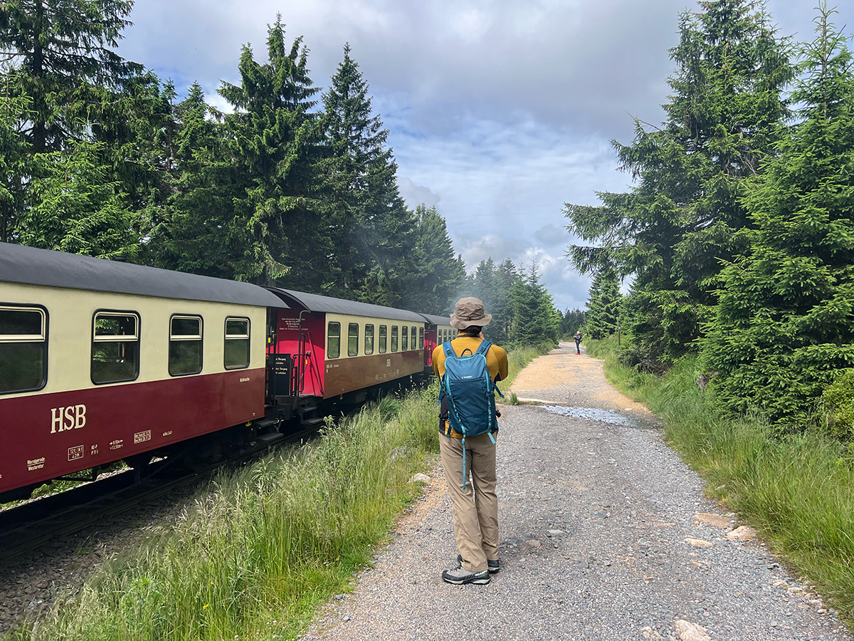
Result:
[[0,282],[287,308],[258,285],[0,243]]

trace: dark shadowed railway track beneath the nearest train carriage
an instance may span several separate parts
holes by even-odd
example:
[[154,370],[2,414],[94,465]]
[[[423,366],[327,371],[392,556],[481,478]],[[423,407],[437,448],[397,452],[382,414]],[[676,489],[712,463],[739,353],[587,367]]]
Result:
[[298,443],[312,436],[316,427],[300,432],[260,435],[252,443],[225,461],[219,461],[186,473],[173,460],[150,463],[143,479],[137,481],[134,470],[114,474],[71,490],[25,503],[0,512],[0,567],[8,567],[28,553],[59,538],[80,532],[98,522],[124,514],[137,505],[163,497],[182,487],[206,479],[224,466],[243,465],[273,448]]

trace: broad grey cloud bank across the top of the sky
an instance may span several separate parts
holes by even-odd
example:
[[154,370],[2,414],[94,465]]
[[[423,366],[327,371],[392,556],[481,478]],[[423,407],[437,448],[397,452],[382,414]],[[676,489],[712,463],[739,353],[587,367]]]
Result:
[[506,120],[527,113],[610,137],[630,134],[627,110],[658,113],[682,0],[149,0],[137,3],[123,55],[212,92],[237,79],[243,44],[266,58],[278,11],[303,36],[313,79],[327,85],[348,42],[375,91],[402,93],[412,123],[456,131],[467,111]]

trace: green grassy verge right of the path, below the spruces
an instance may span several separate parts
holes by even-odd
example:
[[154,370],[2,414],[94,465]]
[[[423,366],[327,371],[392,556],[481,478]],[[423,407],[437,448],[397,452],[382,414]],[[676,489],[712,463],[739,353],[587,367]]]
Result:
[[691,358],[658,378],[617,362],[607,341],[586,345],[614,385],[664,421],[668,443],[709,495],[756,527],[854,627],[854,461],[844,446],[818,431],[774,438],[762,420],[721,417]]

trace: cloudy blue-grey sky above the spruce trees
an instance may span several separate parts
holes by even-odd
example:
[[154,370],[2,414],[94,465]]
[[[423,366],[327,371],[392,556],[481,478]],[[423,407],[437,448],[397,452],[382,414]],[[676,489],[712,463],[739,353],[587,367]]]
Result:
[[[781,35],[814,38],[817,0],[769,0]],[[833,0],[830,2],[834,6]],[[837,26],[854,32],[854,3]],[[193,81],[208,102],[239,83],[244,44],[266,61],[281,14],[302,37],[325,89],[348,43],[389,129],[407,205],[436,205],[455,250],[481,260],[536,262],[559,309],[584,308],[590,279],[564,256],[574,242],[564,203],[627,191],[611,140],[634,119],[664,120],[668,50],[686,0],[140,0],[120,54],[179,93]]]

